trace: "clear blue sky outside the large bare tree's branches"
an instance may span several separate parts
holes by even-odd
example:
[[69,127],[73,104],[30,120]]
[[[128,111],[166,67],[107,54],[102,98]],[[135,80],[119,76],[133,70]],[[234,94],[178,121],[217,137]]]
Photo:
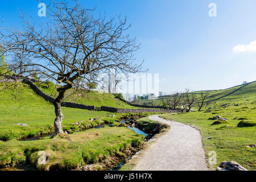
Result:
[[[129,34],[141,43],[137,61],[145,61],[148,73],[159,73],[162,92],[223,89],[256,80],[255,45],[246,47],[256,40],[255,0],[80,2],[107,16],[127,16]],[[208,15],[209,3],[216,3],[216,17]],[[37,21],[37,6],[36,0],[1,2],[0,18],[19,24],[18,8]]]

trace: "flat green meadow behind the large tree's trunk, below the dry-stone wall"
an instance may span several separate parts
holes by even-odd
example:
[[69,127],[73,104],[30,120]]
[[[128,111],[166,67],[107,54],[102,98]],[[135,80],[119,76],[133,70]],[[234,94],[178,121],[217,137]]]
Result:
[[[11,90],[0,92],[0,139],[10,140],[50,133],[55,119],[53,105],[37,96],[26,84],[20,84],[17,90],[16,101]],[[112,114],[69,107],[63,107],[62,110],[64,128],[72,127],[75,122]],[[14,126],[17,123],[26,123],[28,127]]]

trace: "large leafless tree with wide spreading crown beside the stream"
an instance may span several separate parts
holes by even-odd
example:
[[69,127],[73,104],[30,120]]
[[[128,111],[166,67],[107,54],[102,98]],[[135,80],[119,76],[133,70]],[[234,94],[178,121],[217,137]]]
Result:
[[[40,2],[40,1],[39,1]],[[125,31],[126,19],[120,16],[107,19],[94,10],[84,9],[77,1],[51,0],[47,5],[49,21],[36,26],[26,15],[22,28],[0,27],[0,42],[6,56],[30,57],[30,63],[10,62],[12,71],[26,68],[31,73],[57,82],[55,133],[63,133],[61,102],[66,90],[94,82],[101,73],[115,69],[124,74],[137,73],[141,64],[134,64],[138,45]],[[97,17],[97,18],[96,18]],[[7,61],[8,62],[8,61]],[[8,63],[7,63],[8,64]],[[16,73],[16,72],[15,72]],[[79,84],[75,80],[82,78]]]

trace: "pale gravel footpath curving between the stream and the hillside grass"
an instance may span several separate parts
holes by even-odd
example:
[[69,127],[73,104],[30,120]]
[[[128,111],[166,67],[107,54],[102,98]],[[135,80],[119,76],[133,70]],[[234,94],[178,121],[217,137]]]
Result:
[[142,151],[134,171],[209,170],[199,130],[179,122],[167,121],[159,118],[159,115],[149,118],[171,125],[171,129]]

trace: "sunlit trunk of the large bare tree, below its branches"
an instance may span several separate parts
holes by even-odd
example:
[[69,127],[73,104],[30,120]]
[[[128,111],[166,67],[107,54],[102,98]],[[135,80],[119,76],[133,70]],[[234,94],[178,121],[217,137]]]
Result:
[[60,91],[59,96],[53,102],[53,105],[55,107],[55,115],[56,115],[56,118],[54,121],[55,134],[64,133],[61,128],[61,123],[64,118],[64,115],[62,114],[62,111],[61,111],[61,102],[64,99],[64,93],[65,93],[65,90]]

